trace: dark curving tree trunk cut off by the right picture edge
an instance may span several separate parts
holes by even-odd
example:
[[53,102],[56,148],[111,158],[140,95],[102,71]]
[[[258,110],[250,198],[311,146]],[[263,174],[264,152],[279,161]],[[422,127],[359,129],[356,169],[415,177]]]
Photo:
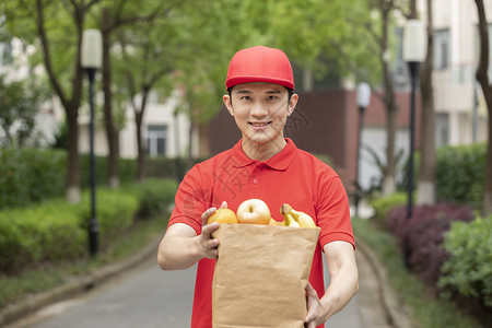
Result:
[[483,0],[475,0],[479,16],[480,58],[477,80],[482,87],[489,112],[489,139],[487,147],[485,183],[483,190],[483,214],[492,214],[492,86],[489,81],[489,31]]

